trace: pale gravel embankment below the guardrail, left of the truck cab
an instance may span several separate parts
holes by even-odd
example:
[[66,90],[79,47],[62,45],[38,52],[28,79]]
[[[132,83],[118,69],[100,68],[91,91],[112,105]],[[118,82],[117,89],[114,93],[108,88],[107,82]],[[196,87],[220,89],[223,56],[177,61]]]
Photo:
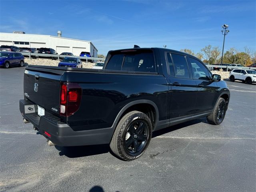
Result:
[[[45,65],[45,66],[58,66],[58,63],[60,61],[58,60],[51,60],[51,59],[42,59],[42,58],[36,58],[36,59],[29,59],[25,58],[25,63],[28,65]],[[92,68],[95,63],[86,63],[82,62],[83,68]]]

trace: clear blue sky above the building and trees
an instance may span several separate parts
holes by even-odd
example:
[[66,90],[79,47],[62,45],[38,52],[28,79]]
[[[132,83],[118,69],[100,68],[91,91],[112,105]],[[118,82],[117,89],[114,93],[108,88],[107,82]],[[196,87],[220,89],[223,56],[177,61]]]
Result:
[[199,52],[211,44],[222,48],[222,25],[228,24],[224,51],[244,46],[256,50],[256,1],[4,1],[0,32],[24,31],[89,40],[108,50],[163,47]]

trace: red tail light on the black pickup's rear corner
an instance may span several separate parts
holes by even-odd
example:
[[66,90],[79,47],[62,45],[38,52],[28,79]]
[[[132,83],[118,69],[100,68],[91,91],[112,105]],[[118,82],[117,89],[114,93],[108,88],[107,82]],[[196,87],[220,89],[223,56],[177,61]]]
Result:
[[80,107],[82,88],[77,83],[62,83],[60,89],[60,115],[70,116]]

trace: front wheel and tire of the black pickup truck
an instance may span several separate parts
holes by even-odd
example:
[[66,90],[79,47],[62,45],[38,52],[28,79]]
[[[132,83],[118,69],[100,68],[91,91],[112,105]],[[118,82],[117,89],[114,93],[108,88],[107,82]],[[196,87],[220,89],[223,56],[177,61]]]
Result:
[[214,107],[212,114],[207,116],[207,120],[212,125],[219,125],[225,118],[227,104],[224,98],[219,98],[216,106]]

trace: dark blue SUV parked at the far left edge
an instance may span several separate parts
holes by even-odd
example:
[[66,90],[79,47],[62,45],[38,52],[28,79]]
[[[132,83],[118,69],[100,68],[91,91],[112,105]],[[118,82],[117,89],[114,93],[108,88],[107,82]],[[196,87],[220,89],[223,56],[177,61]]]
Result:
[[24,56],[21,53],[0,52],[0,66],[4,68],[9,68],[12,65],[19,65],[20,67],[24,66]]

